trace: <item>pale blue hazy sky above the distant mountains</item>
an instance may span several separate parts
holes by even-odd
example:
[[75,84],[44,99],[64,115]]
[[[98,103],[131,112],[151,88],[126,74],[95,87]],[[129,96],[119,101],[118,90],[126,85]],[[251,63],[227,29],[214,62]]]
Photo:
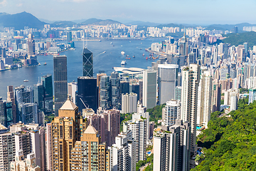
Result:
[[256,0],[0,0],[0,12],[50,21],[113,19],[178,24],[256,24]]

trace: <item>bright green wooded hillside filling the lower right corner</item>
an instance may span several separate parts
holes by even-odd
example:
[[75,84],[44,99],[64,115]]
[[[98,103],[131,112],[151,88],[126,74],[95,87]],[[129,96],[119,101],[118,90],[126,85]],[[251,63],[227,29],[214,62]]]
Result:
[[205,159],[193,170],[256,170],[256,102],[240,100],[230,118],[218,114],[213,113],[208,129],[199,135]]

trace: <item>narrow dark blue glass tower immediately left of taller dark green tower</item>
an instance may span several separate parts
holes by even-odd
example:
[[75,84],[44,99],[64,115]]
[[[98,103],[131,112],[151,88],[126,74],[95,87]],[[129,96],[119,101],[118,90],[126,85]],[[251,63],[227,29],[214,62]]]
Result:
[[34,90],[34,102],[38,105],[38,109],[44,111],[44,103],[43,103],[43,84],[38,83],[33,87]]

